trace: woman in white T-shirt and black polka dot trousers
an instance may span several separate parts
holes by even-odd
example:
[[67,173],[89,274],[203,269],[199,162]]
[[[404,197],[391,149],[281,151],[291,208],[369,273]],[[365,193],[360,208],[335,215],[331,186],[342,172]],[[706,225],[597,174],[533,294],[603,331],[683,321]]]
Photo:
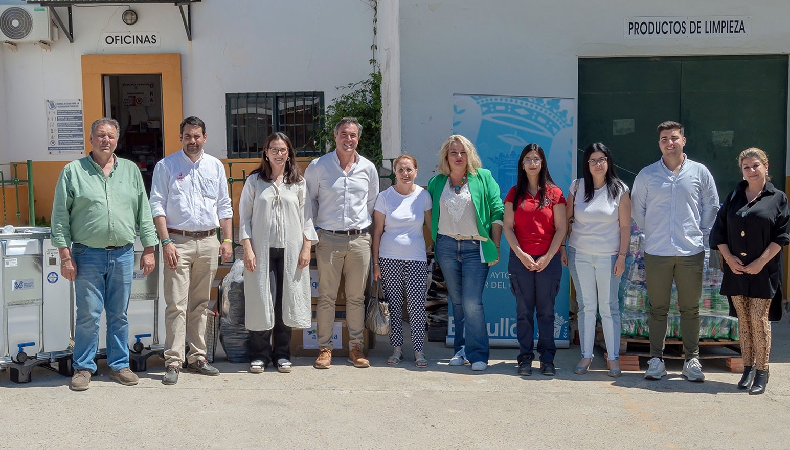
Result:
[[427,255],[423,223],[431,223],[431,196],[414,184],[417,161],[401,155],[393,164],[394,186],[378,194],[373,220],[373,279],[381,281],[384,296],[389,302],[389,343],[393,354],[387,364],[403,361],[403,310],[407,302],[409,324],[414,343],[414,363],[426,367],[425,291]]

